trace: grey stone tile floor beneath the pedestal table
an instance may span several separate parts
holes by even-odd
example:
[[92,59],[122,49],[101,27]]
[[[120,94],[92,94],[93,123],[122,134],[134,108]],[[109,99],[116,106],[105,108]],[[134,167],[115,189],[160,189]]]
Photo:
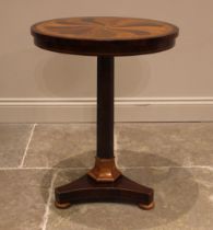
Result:
[[0,125],[0,230],[213,229],[213,123],[116,124],[117,164],[155,189],[155,209],[56,209],[54,187],[93,166],[95,131],[95,124]]

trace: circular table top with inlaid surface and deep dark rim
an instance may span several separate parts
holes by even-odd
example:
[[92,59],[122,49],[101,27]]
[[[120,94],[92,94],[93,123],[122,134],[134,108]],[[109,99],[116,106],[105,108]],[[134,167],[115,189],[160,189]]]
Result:
[[31,27],[40,48],[88,56],[128,56],[163,51],[175,45],[178,27],[166,22],[118,16],[66,18]]

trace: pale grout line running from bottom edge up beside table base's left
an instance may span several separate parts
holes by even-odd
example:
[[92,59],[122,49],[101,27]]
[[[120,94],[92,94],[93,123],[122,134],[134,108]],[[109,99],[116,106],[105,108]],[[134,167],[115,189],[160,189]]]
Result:
[[48,218],[49,218],[49,208],[50,208],[50,203],[51,203],[51,194],[52,194],[51,192],[54,189],[54,184],[55,184],[55,181],[56,181],[56,177],[57,177],[57,173],[58,172],[54,173],[52,179],[51,179],[51,183],[50,183],[50,186],[49,186],[49,189],[48,189],[48,199],[47,199],[47,203],[46,203],[46,206],[45,206],[45,214],[43,216],[43,221],[40,223],[42,230],[47,229],[47,222],[48,222]]

